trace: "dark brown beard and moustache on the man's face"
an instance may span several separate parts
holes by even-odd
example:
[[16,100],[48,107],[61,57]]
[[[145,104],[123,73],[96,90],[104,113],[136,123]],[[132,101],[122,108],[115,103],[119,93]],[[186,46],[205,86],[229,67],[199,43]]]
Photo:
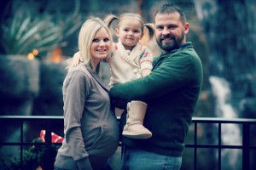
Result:
[[[170,51],[172,51],[172,50],[174,50],[174,49],[177,49],[177,48],[179,48],[179,47],[181,46],[181,43],[182,43],[182,41],[183,41],[184,36],[185,36],[185,35],[184,35],[184,32],[183,32],[183,34],[181,35],[181,37],[178,37],[178,38],[176,39],[174,36],[172,36],[171,34],[169,34],[169,35],[167,35],[167,36],[165,36],[165,37],[162,37],[162,38],[160,38],[160,39],[156,39],[156,42],[157,42],[157,44],[159,45],[159,47],[160,47],[162,50],[164,50],[164,51],[166,51],[166,52],[170,52]],[[166,42],[165,44],[163,44],[162,41],[163,41],[165,38],[172,38],[172,43]]]

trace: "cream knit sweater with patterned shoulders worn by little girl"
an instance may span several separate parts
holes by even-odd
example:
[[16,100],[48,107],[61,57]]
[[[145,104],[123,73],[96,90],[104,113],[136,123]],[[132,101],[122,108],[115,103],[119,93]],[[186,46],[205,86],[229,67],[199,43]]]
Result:
[[109,59],[111,77],[108,87],[113,84],[129,82],[142,77],[143,69],[152,69],[152,54],[148,48],[137,45],[131,50],[125,50],[119,41],[113,45],[113,54]]

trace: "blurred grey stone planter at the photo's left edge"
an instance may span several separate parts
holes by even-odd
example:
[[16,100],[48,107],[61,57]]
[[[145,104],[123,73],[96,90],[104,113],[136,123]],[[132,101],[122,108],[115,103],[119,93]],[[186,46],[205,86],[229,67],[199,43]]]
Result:
[[39,61],[0,54],[0,115],[31,115],[38,95]]

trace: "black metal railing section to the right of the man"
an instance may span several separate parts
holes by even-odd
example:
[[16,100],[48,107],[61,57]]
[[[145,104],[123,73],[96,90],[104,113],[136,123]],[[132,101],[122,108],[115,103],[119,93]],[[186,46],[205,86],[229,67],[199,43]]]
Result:
[[[194,144],[185,144],[187,148],[194,148],[194,169],[197,169],[197,149],[218,149],[218,170],[221,170],[221,150],[222,149],[239,149],[242,150],[241,167],[243,170],[250,169],[250,151],[256,150],[256,144],[250,144],[250,130],[253,125],[256,125],[256,119],[243,118],[210,118],[210,117],[194,117]],[[197,143],[197,129],[199,123],[216,123],[218,124],[218,144],[198,144]],[[241,145],[227,145],[222,144],[222,125],[223,124],[241,124]]]

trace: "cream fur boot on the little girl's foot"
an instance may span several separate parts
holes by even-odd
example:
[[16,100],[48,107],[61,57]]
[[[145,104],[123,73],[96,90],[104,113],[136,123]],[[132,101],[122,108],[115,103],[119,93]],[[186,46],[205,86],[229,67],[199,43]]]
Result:
[[148,139],[152,133],[143,126],[147,104],[142,101],[131,101],[127,104],[126,124],[123,135],[132,139]]

